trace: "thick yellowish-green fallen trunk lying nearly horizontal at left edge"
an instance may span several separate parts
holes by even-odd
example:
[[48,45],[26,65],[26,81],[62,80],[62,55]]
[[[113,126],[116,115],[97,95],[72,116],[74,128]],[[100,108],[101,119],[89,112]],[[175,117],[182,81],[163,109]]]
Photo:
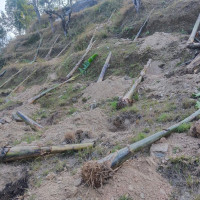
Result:
[[23,146],[0,148],[0,162],[24,160],[49,154],[92,148],[94,143],[69,144],[52,147]]

